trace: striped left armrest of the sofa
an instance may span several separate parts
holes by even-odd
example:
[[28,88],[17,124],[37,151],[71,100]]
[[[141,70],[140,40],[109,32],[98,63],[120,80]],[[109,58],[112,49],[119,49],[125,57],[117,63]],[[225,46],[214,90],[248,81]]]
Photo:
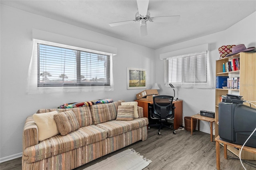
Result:
[[27,117],[22,135],[22,149],[23,151],[39,143],[38,140],[38,127],[32,116]]

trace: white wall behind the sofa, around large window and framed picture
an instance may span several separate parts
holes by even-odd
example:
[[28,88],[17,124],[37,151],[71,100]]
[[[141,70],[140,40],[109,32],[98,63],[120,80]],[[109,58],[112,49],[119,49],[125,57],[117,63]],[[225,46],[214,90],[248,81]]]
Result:
[[[89,42],[116,47],[113,57],[114,91],[88,93],[26,94],[28,67],[32,54],[32,28]],[[63,103],[112,98],[134,101],[143,89],[127,90],[126,67],[147,70],[147,86],[154,83],[154,49],[143,47],[1,5],[1,107],[0,161],[21,156],[25,119],[42,108]]]

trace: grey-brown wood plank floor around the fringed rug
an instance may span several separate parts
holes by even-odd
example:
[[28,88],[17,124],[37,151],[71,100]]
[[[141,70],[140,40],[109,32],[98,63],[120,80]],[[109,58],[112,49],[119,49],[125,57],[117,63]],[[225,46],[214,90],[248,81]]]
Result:
[[[195,131],[193,135],[186,130],[177,131],[164,128],[161,135],[157,134],[156,127],[148,130],[148,139],[139,141],[130,146],[117,150],[97,160],[80,166],[75,170],[84,168],[100,162],[114,154],[117,154],[128,148],[134,148],[144,157],[152,160],[144,170],[216,170],[215,142],[210,142],[210,134]],[[228,151],[228,156],[237,158]],[[256,167],[256,161],[248,160]],[[247,170],[256,170],[256,168],[244,163]],[[243,170],[240,160],[228,158],[224,159],[224,149],[220,149],[220,168],[222,170]],[[21,170],[21,158],[16,158],[0,164],[0,170]]]

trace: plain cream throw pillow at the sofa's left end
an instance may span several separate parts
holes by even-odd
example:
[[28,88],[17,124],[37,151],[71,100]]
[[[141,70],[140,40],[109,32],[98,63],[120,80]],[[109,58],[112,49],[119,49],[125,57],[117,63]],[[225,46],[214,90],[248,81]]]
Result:
[[54,121],[54,115],[57,113],[57,111],[52,111],[48,113],[36,113],[33,115],[33,119],[38,127],[39,141],[48,139],[60,133],[56,122]]

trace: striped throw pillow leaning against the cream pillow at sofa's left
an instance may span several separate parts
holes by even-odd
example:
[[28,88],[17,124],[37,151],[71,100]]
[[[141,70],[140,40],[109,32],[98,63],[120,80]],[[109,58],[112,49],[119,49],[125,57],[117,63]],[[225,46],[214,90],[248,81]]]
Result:
[[54,115],[57,128],[62,136],[79,128],[79,123],[73,111],[66,111]]

